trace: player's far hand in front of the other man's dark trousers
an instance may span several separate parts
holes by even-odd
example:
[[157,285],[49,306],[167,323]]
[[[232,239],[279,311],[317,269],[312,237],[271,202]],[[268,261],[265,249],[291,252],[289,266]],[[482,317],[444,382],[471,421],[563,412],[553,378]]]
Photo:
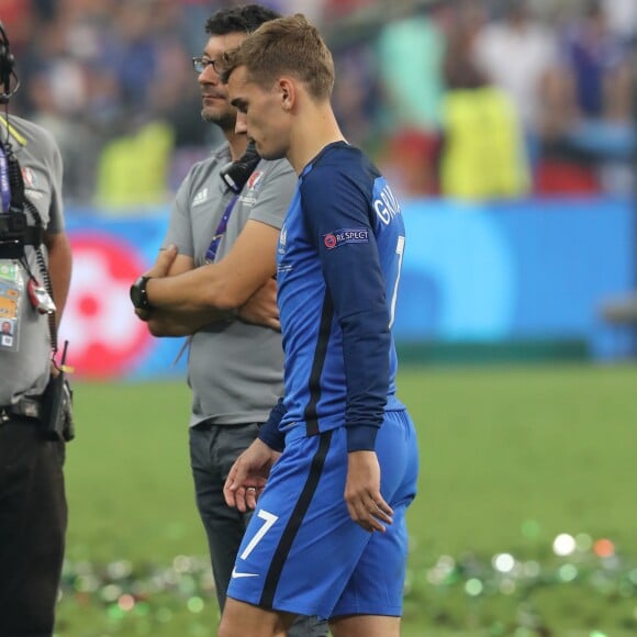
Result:
[[258,438],[235,460],[223,488],[228,506],[242,513],[255,509],[257,499],[266,488],[272,465],[280,454]]

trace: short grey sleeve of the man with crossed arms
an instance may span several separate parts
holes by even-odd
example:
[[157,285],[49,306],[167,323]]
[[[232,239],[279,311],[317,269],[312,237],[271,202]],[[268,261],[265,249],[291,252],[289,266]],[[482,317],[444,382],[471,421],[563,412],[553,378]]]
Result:
[[261,161],[260,166],[264,167],[262,186],[250,219],[280,230],[297,189],[297,174],[287,159]]

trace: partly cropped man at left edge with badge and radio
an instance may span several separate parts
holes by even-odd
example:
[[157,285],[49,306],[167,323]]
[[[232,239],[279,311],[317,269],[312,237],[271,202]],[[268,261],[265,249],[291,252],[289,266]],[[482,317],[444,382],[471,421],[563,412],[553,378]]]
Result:
[[[3,29],[0,37],[0,86],[5,92],[14,86],[11,77],[3,77],[11,75],[13,62]],[[0,635],[46,637],[55,624],[67,502],[65,442],[46,431],[44,393],[70,283],[71,253],[63,214],[63,163],[54,138],[32,122],[0,115]],[[8,169],[13,159],[16,171]],[[19,254],[5,233],[19,225],[12,219],[29,226]],[[52,315],[42,312],[44,305],[53,310],[46,288],[56,306]]]

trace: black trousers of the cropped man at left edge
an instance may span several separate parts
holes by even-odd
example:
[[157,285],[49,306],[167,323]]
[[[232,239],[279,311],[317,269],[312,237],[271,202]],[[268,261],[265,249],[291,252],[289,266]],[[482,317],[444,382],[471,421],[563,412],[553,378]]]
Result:
[[51,637],[67,527],[65,443],[38,421],[0,422],[0,635]]

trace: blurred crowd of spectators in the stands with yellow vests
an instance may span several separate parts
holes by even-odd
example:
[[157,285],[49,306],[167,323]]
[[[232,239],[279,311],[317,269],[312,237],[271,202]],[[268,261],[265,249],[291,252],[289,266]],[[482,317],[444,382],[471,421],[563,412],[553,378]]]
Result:
[[[321,27],[343,131],[403,197],[633,191],[636,0],[262,3]],[[166,203],[221,141],[190,58],[232,4],[0,0],[21,80],[10,112],[57,138],[69,203]]]

